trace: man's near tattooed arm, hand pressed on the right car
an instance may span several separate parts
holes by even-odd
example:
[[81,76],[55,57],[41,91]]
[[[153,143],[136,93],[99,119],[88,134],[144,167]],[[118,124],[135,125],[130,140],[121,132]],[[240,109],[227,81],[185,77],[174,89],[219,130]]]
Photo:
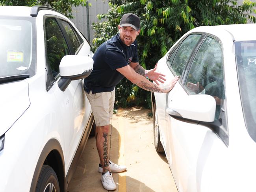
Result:
[[132,83],[136,84],[137,86],[141,87],[142,89],[152,91],[152,92],[162,92],[166,93],[173,89],[175,83],[178,81],[178,76],[175,77],[171,83],[167,84],[166,86],[159,87],[158,85],[148,81],[142,75],[135,72],[135,70],[130,66],[124,66],[122,68],[118,68],[119,71],[123,76],[129,79]]

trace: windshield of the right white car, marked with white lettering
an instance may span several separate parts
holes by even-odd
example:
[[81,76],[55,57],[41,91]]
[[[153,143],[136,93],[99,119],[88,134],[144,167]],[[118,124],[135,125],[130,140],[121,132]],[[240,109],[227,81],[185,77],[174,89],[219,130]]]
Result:
[[256,142],[256,41],[235,42],[235,50],[245,124]]

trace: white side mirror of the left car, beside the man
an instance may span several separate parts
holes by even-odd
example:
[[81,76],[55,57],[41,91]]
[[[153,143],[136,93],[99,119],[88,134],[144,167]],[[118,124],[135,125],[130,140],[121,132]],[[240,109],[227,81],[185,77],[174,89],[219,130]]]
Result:
[[93,70],[93,59],[81,55],[65,55],[59,64],[61,79],[58,81],[59,89],[65,91],[72,80],[88,77]]

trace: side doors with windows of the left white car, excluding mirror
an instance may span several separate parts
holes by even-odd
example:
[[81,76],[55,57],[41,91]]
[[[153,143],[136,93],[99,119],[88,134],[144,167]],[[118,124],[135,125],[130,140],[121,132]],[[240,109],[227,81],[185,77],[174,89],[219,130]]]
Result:
[[[58,87],[59,63],[69,54],[91,56],[90,46],[84,41],[72,24],[64,18],[45,17],[46,58],[48,68],[48,89],[53,89],[59,103],[59,114],[64,135],[65,168],[68,170],[83,133],[86,131],[91,112],[83,91],[83,79],[71,81],[65,91]],[[55,83],[56,82],[56,83]],[[47,84],[47,83],[46,83]],[[87,132],[86,132],[87,134]]]

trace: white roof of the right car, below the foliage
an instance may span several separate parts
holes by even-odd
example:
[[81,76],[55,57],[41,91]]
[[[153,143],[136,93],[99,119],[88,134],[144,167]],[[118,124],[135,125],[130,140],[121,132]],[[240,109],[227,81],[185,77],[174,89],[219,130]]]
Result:
[[216,36],[221,31],[228,31],[232,35],[234,41],[256,40],[256,24],[233,24],[219,26],[201,26],[194,28],[190,32],[206,32]]

